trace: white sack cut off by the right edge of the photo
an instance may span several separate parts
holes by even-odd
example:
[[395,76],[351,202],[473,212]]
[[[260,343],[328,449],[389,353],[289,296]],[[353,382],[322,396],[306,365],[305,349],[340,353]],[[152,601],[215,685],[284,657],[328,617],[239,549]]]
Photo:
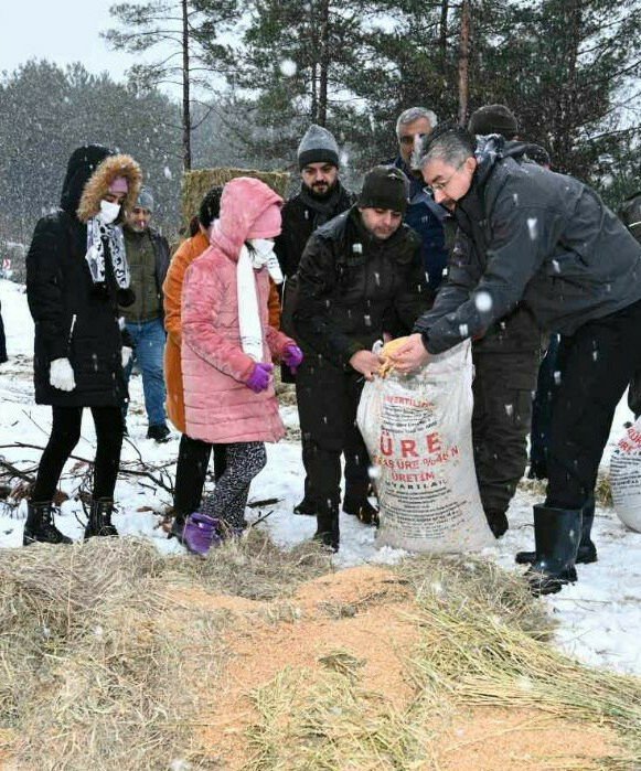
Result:
[[610,486],[619,520],[641,533],[641,418],[617,442],[610,458]]

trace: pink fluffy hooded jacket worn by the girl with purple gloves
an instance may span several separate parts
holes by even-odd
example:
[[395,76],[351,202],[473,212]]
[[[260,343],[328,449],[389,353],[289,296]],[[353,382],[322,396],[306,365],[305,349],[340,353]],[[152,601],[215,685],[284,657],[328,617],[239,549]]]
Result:
[[[186,433],[207,442],[278,441],[285,427],[274,386],[245,384],[254,361],[238,330],[236,265],[253,223],[281,199],[265,183],[238,176],[225,185],[211,246],[188,268],[182,289],[182,376]],[[263,362],[282,355],[291,338],[269,326],[267,268],[255,271],[263,324]]]

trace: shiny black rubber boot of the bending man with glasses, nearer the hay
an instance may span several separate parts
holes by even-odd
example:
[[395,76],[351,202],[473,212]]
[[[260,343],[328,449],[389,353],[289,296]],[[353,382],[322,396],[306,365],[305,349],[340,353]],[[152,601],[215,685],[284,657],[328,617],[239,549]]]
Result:
[[535,597],[555,593],[577,580],[575,559],[580,533],[580,508],[534,506],[536,559],[525,576]]

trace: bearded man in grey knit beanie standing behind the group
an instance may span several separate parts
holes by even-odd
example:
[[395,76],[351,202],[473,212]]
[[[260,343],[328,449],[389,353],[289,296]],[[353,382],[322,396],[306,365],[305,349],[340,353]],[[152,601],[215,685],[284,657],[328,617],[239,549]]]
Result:
[[[321,225],[333,219],[352,205],[352,195],[343,188],[339,179],[339,146],[330,131],[322,126],[312,124],[306,131],[298,146],[298,165],[300,169],[300,191],[285,203],[281,210],[282,231],[276,238],[274,250],[280,263],[280,269],[286,278],[282,304],[288,302],[288,279],[296,274],[300,257],[311,234]],[[292,285],[290,285],[291,287]],[[295,376],[286,364],[281,365],[282,381],[292,383]],[[302,462],[306,468],[305,495],[293,507],[295,514],[316,516],[316,505],[308,494],[309,481],[307,475],[306,438],[302,436]],[[352,481],[361,489],[361,469],[353,468],[351,459],[345,459],[345,499],[348,507],[353,513],[363,506],[372,508],[366,496],[352,493]],[[364,480],[366,481],[366,480]],[[372,516],[372,511],[365,515]]]

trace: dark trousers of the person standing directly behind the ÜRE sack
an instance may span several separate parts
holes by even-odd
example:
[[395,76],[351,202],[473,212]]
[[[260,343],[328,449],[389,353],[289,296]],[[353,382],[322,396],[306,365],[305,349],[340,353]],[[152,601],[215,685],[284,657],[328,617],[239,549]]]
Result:
[[485,512],[504,514],[527,463],[539,353],[473,351],[472,356],[472,445],[479,492]]

